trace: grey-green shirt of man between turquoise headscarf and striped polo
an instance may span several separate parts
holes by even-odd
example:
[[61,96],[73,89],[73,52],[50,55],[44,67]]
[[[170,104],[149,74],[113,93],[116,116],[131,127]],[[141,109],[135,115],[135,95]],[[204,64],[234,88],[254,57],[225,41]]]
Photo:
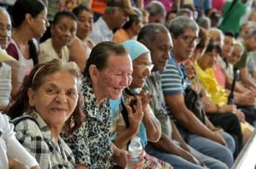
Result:
[[[166,110],[164,94],[162,91],[161,76],[159,72],[151,73],[151,75],[146,79],[146,83],[143,88],[149,93],[154,93],[154,97],[152,97],[152,99],[149,101],[149,106],[154,112],[155,117],[159,120],[162,132],[167,134],[168,138],[172,138],[172,124]],[[146,150],[150,151],[152,149],[154,149],[154,147],[148,143]]]

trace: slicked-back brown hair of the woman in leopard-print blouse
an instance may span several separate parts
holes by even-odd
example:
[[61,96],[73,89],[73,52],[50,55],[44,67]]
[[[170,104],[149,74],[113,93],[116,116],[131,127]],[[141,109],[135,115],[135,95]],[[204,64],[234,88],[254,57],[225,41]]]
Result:
[[89,68],[92,64],[94,64],[99,71],[107,68],[107,61],[111,55],[128,55],[128,53],[123,45],[118,45],[111,41],[104,41],[94,46],[87,60],[83,76],[90,77]]

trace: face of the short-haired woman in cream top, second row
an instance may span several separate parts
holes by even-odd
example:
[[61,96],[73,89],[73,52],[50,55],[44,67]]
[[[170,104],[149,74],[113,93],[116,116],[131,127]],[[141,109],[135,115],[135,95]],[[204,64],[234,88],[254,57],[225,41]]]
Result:
[[51,38],[60,46],[69,45],[76,34],[78,24],[69,16],[62,16],[58,23],[51,26]]

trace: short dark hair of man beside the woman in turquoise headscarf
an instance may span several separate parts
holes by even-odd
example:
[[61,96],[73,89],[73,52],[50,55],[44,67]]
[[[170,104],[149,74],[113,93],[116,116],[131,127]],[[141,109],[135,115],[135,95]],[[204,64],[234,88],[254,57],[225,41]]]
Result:
[[155,40],[156,35],[163,31],[168,32],[168,29],[164,25],[159,23],[150,23],[140,30],[137,40]]

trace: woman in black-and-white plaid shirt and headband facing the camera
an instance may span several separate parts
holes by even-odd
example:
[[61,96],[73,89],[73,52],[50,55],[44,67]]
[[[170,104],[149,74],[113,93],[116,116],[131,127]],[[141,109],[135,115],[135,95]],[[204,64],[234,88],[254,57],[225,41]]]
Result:
[[36,65],[8,109],[16,138],[40,168],[75,168],[73,153],[59,134],[72,134],[81,124],[78,104],[80,70],[54,59]]

